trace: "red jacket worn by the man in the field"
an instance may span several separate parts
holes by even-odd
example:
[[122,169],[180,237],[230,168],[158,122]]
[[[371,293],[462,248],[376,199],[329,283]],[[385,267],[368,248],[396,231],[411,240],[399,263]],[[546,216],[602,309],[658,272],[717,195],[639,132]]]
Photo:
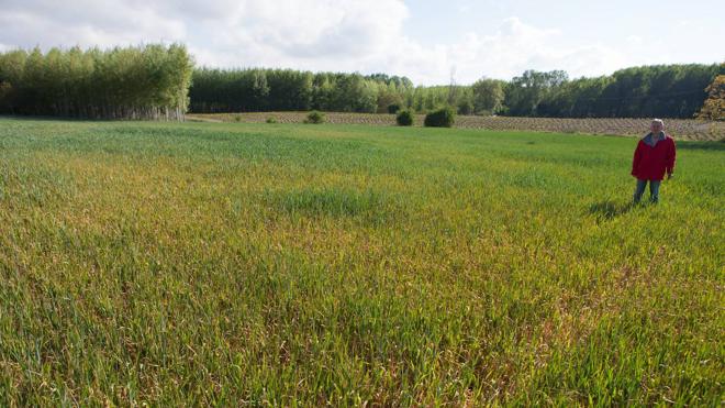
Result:
[[661,180],[665,172],[671,174],[674,170],[674,140],[662,134],[655,142],[650,133],[639,140],[632,161],[632,175],[640,180]]

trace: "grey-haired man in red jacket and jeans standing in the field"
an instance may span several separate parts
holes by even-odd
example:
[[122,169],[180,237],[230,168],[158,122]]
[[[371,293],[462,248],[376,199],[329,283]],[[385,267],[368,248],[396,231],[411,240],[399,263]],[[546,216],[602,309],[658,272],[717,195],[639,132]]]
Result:
[[639,140],[632,161],[632,175],[637,178],[634,202],[638,203],[649,181],[649,200],[659,201],[659,185],[665,178],[672,178],[674,172],[674,141],[665,134],[661,119],[652,120],[650,132]]

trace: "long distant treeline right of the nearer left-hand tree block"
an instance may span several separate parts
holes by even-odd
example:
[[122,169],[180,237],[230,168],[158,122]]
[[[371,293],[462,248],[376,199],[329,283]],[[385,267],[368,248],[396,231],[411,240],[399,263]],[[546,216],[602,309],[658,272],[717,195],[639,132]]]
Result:
[[556,118],[692,118],[705,88],[725,65],[658,65],[569,79],[564,70],[527,70],[511,81],[487,79],[470,86],[414,87],[405,77],[289,69],[194,71],[193,112],[326,110],[425,112],[450,106],[460,114]]

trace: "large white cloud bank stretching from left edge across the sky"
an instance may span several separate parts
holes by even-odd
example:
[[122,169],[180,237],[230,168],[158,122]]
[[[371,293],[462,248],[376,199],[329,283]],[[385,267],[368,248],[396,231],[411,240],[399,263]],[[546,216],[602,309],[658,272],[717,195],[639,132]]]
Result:
[[601,75],[651,60],[636,53],[640,38],[634,36],[623,49],[558,46],[564,33],[517,18],[493,33],[422,44],[404,32],[409,10],[402,0],[3,0],[2,8],[0,49],[177,41],[200,65],[383,71],[426,85],[447,84],[454,67],[456,81],[467,84],[532,68]]

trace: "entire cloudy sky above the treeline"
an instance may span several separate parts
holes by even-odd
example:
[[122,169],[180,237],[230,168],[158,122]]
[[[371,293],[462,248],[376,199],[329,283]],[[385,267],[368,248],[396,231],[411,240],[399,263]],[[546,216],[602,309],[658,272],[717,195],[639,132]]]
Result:
[[198,65],[415,84],[725,62],[717,0],[0,0],[0,51],[182,42]]

